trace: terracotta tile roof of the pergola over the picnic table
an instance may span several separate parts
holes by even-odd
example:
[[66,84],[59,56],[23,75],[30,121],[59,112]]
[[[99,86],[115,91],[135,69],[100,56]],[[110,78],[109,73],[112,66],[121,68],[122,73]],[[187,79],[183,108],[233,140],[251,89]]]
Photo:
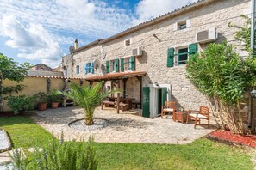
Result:
[[123,73],[112,73],[103,76],[91,76],[85,78],[87,81],[100,81],[100,80],[120,80],[122,78],[129,78],[134,76],[145,76],[146,71],[134,71],[134,72],[123,72]]

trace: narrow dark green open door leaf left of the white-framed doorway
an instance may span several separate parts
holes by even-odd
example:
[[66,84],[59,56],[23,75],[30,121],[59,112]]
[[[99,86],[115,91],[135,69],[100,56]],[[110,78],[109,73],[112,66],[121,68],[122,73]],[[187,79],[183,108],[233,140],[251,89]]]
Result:
[[142,88],[142,116],[150,117],[150,90],[149,87]]

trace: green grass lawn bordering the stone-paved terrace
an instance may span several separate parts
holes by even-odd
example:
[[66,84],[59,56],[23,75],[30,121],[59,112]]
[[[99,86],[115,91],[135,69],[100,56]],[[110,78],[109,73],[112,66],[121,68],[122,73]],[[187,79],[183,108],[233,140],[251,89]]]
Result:
[[[41,146],[52,135],[30,118],[0,118],[14,148]],[[253,169],[246,152],[198,139],[187,145],[96,143],[98,169]]]

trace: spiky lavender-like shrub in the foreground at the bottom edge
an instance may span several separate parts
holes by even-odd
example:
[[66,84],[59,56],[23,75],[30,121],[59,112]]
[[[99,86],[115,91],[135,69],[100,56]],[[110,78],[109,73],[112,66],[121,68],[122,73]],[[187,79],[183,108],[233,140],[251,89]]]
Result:
[[[63,137],[60,141],[63,141]],[[65,142],[59,143],[55,138],[41,149],[24,158],[19,152],[14,153],[14,167],[16,169],[48,169],[48,170],[76,170],[97,169],[96,151],[93,139],[88,143]]]

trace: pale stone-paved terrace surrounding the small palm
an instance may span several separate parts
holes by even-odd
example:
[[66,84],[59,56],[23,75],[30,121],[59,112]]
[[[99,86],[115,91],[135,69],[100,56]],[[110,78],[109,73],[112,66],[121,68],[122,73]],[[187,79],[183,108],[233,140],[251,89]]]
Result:
[[[99,143],[191,143],[195,139],[207,135],[215,130],[215,126],[205,129],[197,126],[194,129],[193,122],[181,124],[168,118],[143,118],[138,112],[116,113],[114,108],[95,111],[97,121],[103,121],[101,128],[82,130],[74,129],[68,124],[76,119],[84,118],[83,109],[78,107],[66,107],[47,109],[46,111],[34,111],[32,118],[44,129],[53,132],[55,137],[60,137],[61,131],[66,140],[87,140],[91,135]],[[96,122],[97,122],[96,121]],[[78,123],[78,122],[77,122]],[[80,121],[84,123],[84,121]],[[97,126],[97,125],[95,125]]]

